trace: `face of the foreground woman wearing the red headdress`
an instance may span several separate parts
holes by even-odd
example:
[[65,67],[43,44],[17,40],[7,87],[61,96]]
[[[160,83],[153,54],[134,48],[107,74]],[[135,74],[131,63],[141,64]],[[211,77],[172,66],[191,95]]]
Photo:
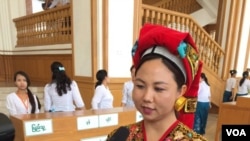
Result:
[[134,79],[133,100],[145,120],[166,119],[175,115],[174,104],[186,90],[178,90],[174,74],[161,59],[144,62]]

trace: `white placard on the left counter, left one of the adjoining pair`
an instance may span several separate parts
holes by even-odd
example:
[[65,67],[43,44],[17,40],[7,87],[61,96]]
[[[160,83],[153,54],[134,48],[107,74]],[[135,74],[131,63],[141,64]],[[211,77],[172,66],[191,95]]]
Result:
[[77,118],[77,129],[85,130],[91,128],[98,128],[98,116],[85,116]]

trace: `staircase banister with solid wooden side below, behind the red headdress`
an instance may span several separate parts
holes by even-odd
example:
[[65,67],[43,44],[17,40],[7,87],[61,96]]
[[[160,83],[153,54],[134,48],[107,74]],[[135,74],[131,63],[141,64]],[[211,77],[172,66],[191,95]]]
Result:
[[211,80],[211,101],[219,106],[225,84],[220,74],[220,67],[225,56],[221,46],[187,14],[146,4],[141,5],[141,11],[140,23],[142,25],[145,23],[160,24],[181,32],[190,33],[198,47],[199,57],[203,61],[203,72],[206,72]]

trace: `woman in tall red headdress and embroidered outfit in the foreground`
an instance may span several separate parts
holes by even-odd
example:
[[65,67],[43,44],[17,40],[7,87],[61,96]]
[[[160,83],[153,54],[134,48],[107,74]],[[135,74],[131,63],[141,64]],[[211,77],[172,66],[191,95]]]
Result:
[[[202,63],[190,35],[147,24],[132,54],[136,68],[132,97],[143,120],[124,126],[128,134],[122,137],[117,135],[120,129],[114,130],[107,141],[206,141],[192,130],[195,109],[190,105],[197,97]],[[179,99],[184,104],[191,101],[186,110]]]

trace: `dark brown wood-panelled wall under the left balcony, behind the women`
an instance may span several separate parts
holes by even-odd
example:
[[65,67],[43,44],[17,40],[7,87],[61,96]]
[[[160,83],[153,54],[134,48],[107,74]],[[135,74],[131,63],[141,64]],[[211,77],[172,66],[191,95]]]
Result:
[[14,55],[12,59],[13,72],[25,71],[34,86],[44,86],[51,81],[50,65],[54,61],[60,61],[68,76],[73,77],[72,55]]

